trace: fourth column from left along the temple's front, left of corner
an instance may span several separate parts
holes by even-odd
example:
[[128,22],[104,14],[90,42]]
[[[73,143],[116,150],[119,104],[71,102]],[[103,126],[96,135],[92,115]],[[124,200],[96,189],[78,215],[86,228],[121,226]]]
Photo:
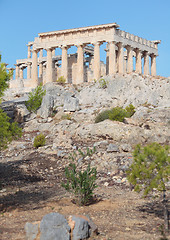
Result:
[[83,45],[77,46],[77,77],[76,84],[84,82],[84,51]]

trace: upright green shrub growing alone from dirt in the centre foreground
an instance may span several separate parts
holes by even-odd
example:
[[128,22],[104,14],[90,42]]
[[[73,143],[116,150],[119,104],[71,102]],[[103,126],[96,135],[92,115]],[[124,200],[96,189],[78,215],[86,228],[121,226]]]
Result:
[[79,156],[82,160],[86,156],[92,156],[95,152],[95,149],[90,150],[87,148],[87,152],[83,153],[80,149],[78,150],[78,154],[74,152],[70,155],[72,159],[72,163],[69,164],[68,167],[65,168],[65,177],[67,182],[62,183],[61,185],[69,192],[72,192],[76,197],[76,203],[78,205],[87,205],[90,203],[94,197],[94,189],[97,188],[95,184],[97,178],[96,168],[91,168],[90,164],[86,167],[84,171],[78,169],[78,163],[75,163]]

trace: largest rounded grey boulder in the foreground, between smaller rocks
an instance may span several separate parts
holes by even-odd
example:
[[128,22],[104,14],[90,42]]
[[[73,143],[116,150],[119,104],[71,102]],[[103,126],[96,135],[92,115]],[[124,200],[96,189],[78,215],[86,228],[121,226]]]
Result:
[[40,223],[40,240],[70,240],[70,227],[59,213],[45,215]]

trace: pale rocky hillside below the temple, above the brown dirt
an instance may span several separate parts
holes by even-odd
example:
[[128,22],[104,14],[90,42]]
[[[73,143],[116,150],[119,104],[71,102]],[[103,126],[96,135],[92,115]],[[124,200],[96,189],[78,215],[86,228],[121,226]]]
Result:
[[[91,165],[97,168],[98,184],[129,188],[125,171],[132,162],[134,146],[170,142],[170,78],[152,79],[133,74],[106,78],[105,83],[104,88],[98,82],[80,86],[48,83],[44,86],[46,95],[37,114],[30,114],[26,109],[27,94],[22,94],[23,90],[19,93],[8,90],[4,100],[12,100],[10,104],[15,106],[14,117],[23,127],[23,136],[1,153],[1,163],[9,162],[16,167],[20,161],[19,169],[24,174],[36,174],[48,182],[60,171],[58,168],[63,169],[68,164],[69,153],[95,146]],[[11,96],[15,97],[14,101]],[[136,112],[124,122],[95,123],[101,111],[129,104],[135,106]],[[46,136],[46,144],[36,150],[33,140],[40,132]],[[48,159],[48,164],[43,166],[41,158]],[[80,160],[80,164],[84,162]],[[57,181],[59,178],[61,174]]]

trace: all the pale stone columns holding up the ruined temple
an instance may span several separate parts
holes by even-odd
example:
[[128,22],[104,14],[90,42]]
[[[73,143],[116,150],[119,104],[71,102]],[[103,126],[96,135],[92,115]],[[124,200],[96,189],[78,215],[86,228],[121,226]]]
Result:
[[[100,42],[92,43],[94,45],[94,65],[93,73],[94,79],[100,78]],[[111,41],[109,44],[109,75],[118,73],[124,73],[124,46],[121,42],[116,43]],[[77,46],[77,77],[75,79],[76,84],[84,81],[84,44]],[[62,46],[62,67],[61,75],[66,79],[68,77],[68,55],[67,50],[69,46]],[[140,49],[133,49],[131,46],[125,46],[127,50],[127,73],[133,72],[133,52],[136,52],[136,72],[142,73],[142,56],[144,57],[144,75],[149,74],[149,54],[147,52],[140,51]],[[116,49],[118,49],[116,51]],[[52,56],[55,55],[55,48],[48,48],[47,50],[47,66],[46,66],[46,79],[43,84],[53,81],[53,61]],[[38,52],[39,59],[43,57],[43,49],[32,49],[32,63],[31,60],[31,45],[28,45],[28,62],[27,62],[27,79],[31,79],[33,87],[38,85]],[[32,65],[32,68],[31,68]],[[18,77],[23,78],[23,68],[16,65],[16,79]],[[39,63],[39,77],[43,75],[43,63]],[[151,75],[156,75],[156,56],[151,55]]]

